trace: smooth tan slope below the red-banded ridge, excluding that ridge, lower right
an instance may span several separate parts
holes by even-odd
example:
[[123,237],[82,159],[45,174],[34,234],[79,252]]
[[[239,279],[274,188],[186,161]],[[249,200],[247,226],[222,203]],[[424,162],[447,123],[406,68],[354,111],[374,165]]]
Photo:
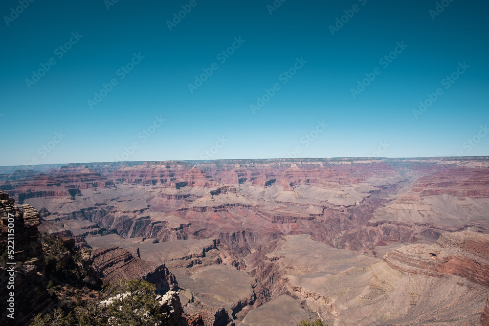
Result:
[[[274,240],[263,250],[256,253],[263,261],[252,254],[246,262],[271,298],[286,294],[329,325],[451,325],[454,320],[457,325],[477,325],[488,295],[487,285],[469,278],[445,272],[414,276],[407,269],[400,272],[385,261],[331,248],[305,235]],[[482,268],[479,272],[484,273]],[[393,314],[393,306],[399,312]]]

